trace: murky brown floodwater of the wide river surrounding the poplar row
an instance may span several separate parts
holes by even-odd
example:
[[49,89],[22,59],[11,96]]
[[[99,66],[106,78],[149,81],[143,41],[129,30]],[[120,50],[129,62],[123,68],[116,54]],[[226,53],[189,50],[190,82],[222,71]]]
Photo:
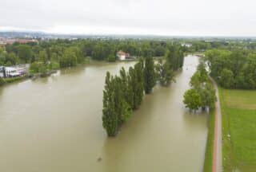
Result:
[[145,96],[116,138],[106,137],[106,71],[131,65],[92,62],[0,88],[0,171],[202,171],[207,117],[182,104],[197,57],[185,58],[175,84]]

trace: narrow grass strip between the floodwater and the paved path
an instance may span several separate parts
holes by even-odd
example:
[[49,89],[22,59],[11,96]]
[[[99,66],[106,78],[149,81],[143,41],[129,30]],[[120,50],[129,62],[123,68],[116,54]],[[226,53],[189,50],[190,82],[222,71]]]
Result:
[[208,135],[207,135],[207,142],[206,142],[205,162],[203,166],[204,172],[211,171],[213,166],[214,121],[215,121],[215,109],[210,110],[209,117],[208,117]]

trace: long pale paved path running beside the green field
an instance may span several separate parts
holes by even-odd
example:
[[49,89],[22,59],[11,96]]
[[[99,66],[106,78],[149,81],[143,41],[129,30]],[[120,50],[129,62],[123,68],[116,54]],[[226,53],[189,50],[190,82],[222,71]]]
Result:
[[213,158],[213,172],[222,171],[222,112],[218,96],[218,86],[216,82],[211,79],[216,90],[217,102],[215,104],[215,127],[214,127],[214,158]]

